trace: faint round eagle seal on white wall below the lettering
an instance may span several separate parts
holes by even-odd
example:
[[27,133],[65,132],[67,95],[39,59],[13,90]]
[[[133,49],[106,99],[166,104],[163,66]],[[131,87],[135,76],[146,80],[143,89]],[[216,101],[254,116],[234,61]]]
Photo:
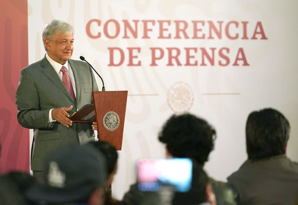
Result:
[[188,111],[193,105],[193,90],[185,82],[174,83],[167,94],[169,107],[176,113]]

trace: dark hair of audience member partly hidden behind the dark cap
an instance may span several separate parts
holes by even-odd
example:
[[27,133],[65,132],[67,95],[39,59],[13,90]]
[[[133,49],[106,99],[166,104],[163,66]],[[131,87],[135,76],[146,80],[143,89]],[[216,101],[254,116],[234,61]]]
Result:
[[108,175],[110,175],[114,171],[118,159],[116,148],[109,142],[104,141],[89,142],[89,144],[93,145],[97,150],[103,153],[103,156],[105,156],[107,161]]

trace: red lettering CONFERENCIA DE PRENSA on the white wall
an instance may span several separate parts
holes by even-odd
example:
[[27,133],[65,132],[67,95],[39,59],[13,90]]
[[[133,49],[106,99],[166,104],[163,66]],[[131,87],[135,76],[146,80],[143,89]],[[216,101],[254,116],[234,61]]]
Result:
[[[103,25],[103,26],[102,26]],[[253,25],[253,26],[252,26]],[[267,40],[261,21],[254,24],[248,21],[184,21],[184,20],[122,20],[109,19],[103,24],[99,19],[91,19],[86,24],[86,33],[92,39],[105,38],[141,38],[141,39],[224,39],[224,40]],[[249,27],[250,26],[250,27]],[[110,29],[113,28],[113,29]],[[250,28],[250,29],[248,29]],[[252,31],[253,28],[253,32]],[[122,31],[122,32],[121,32]],[[125,60],[125,49],[119,47],[108,47],[110,62],[108,66],[121,66]],[[162,60],[167,54],[166,66],[210,66],[218,63],[219,66],[249,66],[243,47],[239,47],[237,52],[230,52],[228,47],[150,47],[151,63],[150,66],[158,66],[159,60]],[[185,56],[183,64],[181,63],[181,51]],[[136,53],[141,52],[141,47],[127,47],[128,64],[127,66],[141,66],[141,60]],[[201,63],[195,60],[195,54],[200,52]],[[236,53],[234,56],[229,54]],[[119,56],[115,62],[114,54]],[[216,54],[220,60],[215,61]],[[126,55],[126,56],[127,56]],[[137,62],[134,62],[137,61]],[[239,62],[240,61],[240,62]]]

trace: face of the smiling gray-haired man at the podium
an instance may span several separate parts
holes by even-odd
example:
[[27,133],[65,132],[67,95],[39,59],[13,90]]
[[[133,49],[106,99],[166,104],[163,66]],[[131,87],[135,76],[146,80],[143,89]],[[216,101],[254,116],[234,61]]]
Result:
[[52,41],[47,44],[48,55],[57,63],[64,64],[72,57],[74,37],[71,31],[65,33],[55,33]]

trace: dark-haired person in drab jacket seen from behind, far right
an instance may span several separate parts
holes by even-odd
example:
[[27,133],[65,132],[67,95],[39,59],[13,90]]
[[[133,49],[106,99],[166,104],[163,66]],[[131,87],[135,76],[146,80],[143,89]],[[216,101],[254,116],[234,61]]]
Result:
[[249,114],[246,160],[228,183],[239,192],[241,205],[295,204],[298,164],[286,156],[290,124],[279,111],[267,108]]

